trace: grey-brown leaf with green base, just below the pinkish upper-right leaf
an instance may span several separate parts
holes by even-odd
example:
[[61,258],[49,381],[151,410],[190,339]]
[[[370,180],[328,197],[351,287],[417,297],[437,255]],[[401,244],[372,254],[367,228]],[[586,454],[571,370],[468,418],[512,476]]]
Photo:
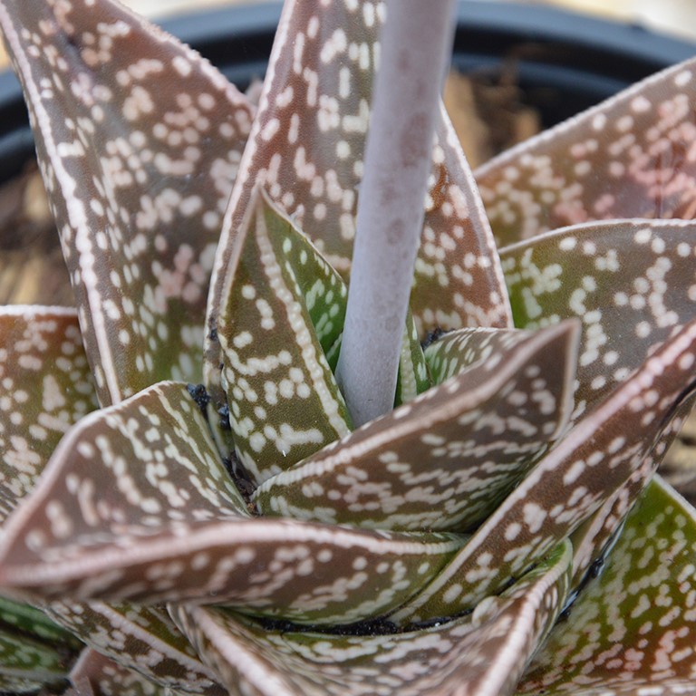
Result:
[[583,322],[577,420],[696,315],[696,223],[568,227],[500,252],[515,323]]

